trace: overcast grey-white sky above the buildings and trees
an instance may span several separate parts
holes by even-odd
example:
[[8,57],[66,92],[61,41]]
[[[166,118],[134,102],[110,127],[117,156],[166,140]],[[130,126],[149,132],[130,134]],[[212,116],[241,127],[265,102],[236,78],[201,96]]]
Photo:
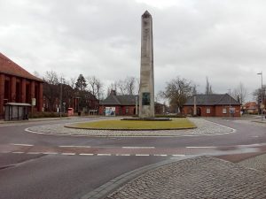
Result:
[[108,86],[139,77],[145,10],[156,92],[177,75],[204,92],[208,77],[215,93],[242,82],[252,99],[266,65],[264,0],[0,0],[0,52],[30,73],[95,75]]

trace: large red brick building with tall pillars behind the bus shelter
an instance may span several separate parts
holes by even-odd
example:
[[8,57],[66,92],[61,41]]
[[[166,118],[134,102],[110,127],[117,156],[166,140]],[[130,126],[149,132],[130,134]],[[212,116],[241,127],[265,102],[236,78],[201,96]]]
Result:
[[35,110],[43,111],[43,80],[0,53],[0,118],[5,103],[31,103],[32,98]]

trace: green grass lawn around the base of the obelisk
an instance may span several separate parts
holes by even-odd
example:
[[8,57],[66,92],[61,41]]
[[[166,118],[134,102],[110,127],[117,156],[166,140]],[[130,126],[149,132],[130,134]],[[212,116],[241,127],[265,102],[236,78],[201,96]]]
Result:
[[86,123],[77,123],[71,125],[71,127],[88,128],[88,129],[111,129],[111,130],[141,130],[141,129],[185,129],[196,127],[190,120],[172,119],[171,121],[136,121],[136,120],[120,120],[109,119],[100,120]]

